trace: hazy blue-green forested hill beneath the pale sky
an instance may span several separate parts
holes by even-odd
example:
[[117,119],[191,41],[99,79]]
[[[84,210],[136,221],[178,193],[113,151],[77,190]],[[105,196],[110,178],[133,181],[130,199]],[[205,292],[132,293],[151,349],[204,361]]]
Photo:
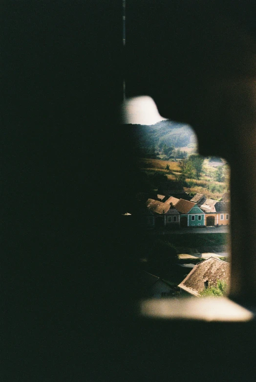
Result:
[[154,125],[123,125],[131,129],[139,147],[149,148],[154,146],[160,148],[167,146],[196,147],[196,135],[192,127],[187,124],[163,120]]

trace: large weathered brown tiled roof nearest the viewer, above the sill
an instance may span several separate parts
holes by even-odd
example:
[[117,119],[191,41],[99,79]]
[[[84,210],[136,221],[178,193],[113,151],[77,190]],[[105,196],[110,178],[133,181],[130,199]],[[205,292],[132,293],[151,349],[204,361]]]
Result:
[[178,287],[194,296],[199,296],[199,293],[204,290],[205,281],[208,281],[210,288],[217,285],[217,280],[229,283],[229,277],[229,263],[216,257],[210,257],[197,264]]

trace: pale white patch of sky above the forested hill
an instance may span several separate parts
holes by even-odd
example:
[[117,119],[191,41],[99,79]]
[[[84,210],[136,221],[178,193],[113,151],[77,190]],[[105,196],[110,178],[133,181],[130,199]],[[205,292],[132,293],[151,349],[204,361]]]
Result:
[[154,125],[166,119],[159,114],[154,100],[148,95],[126,99],[122,109],[123,123]]

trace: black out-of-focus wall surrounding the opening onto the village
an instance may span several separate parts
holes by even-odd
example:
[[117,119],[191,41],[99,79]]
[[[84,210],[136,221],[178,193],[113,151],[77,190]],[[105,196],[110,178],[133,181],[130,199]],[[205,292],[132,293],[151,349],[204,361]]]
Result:
[[253,322],[136,315],[145,235],[122,215],[137,165],[119,115],[125,75],[128,96],[195,128],[201,155],[235,163],[231,296],[252,303],[252,7],[127,1],[124,56],[121,1],[3,1],[2,381],[255,380]]

